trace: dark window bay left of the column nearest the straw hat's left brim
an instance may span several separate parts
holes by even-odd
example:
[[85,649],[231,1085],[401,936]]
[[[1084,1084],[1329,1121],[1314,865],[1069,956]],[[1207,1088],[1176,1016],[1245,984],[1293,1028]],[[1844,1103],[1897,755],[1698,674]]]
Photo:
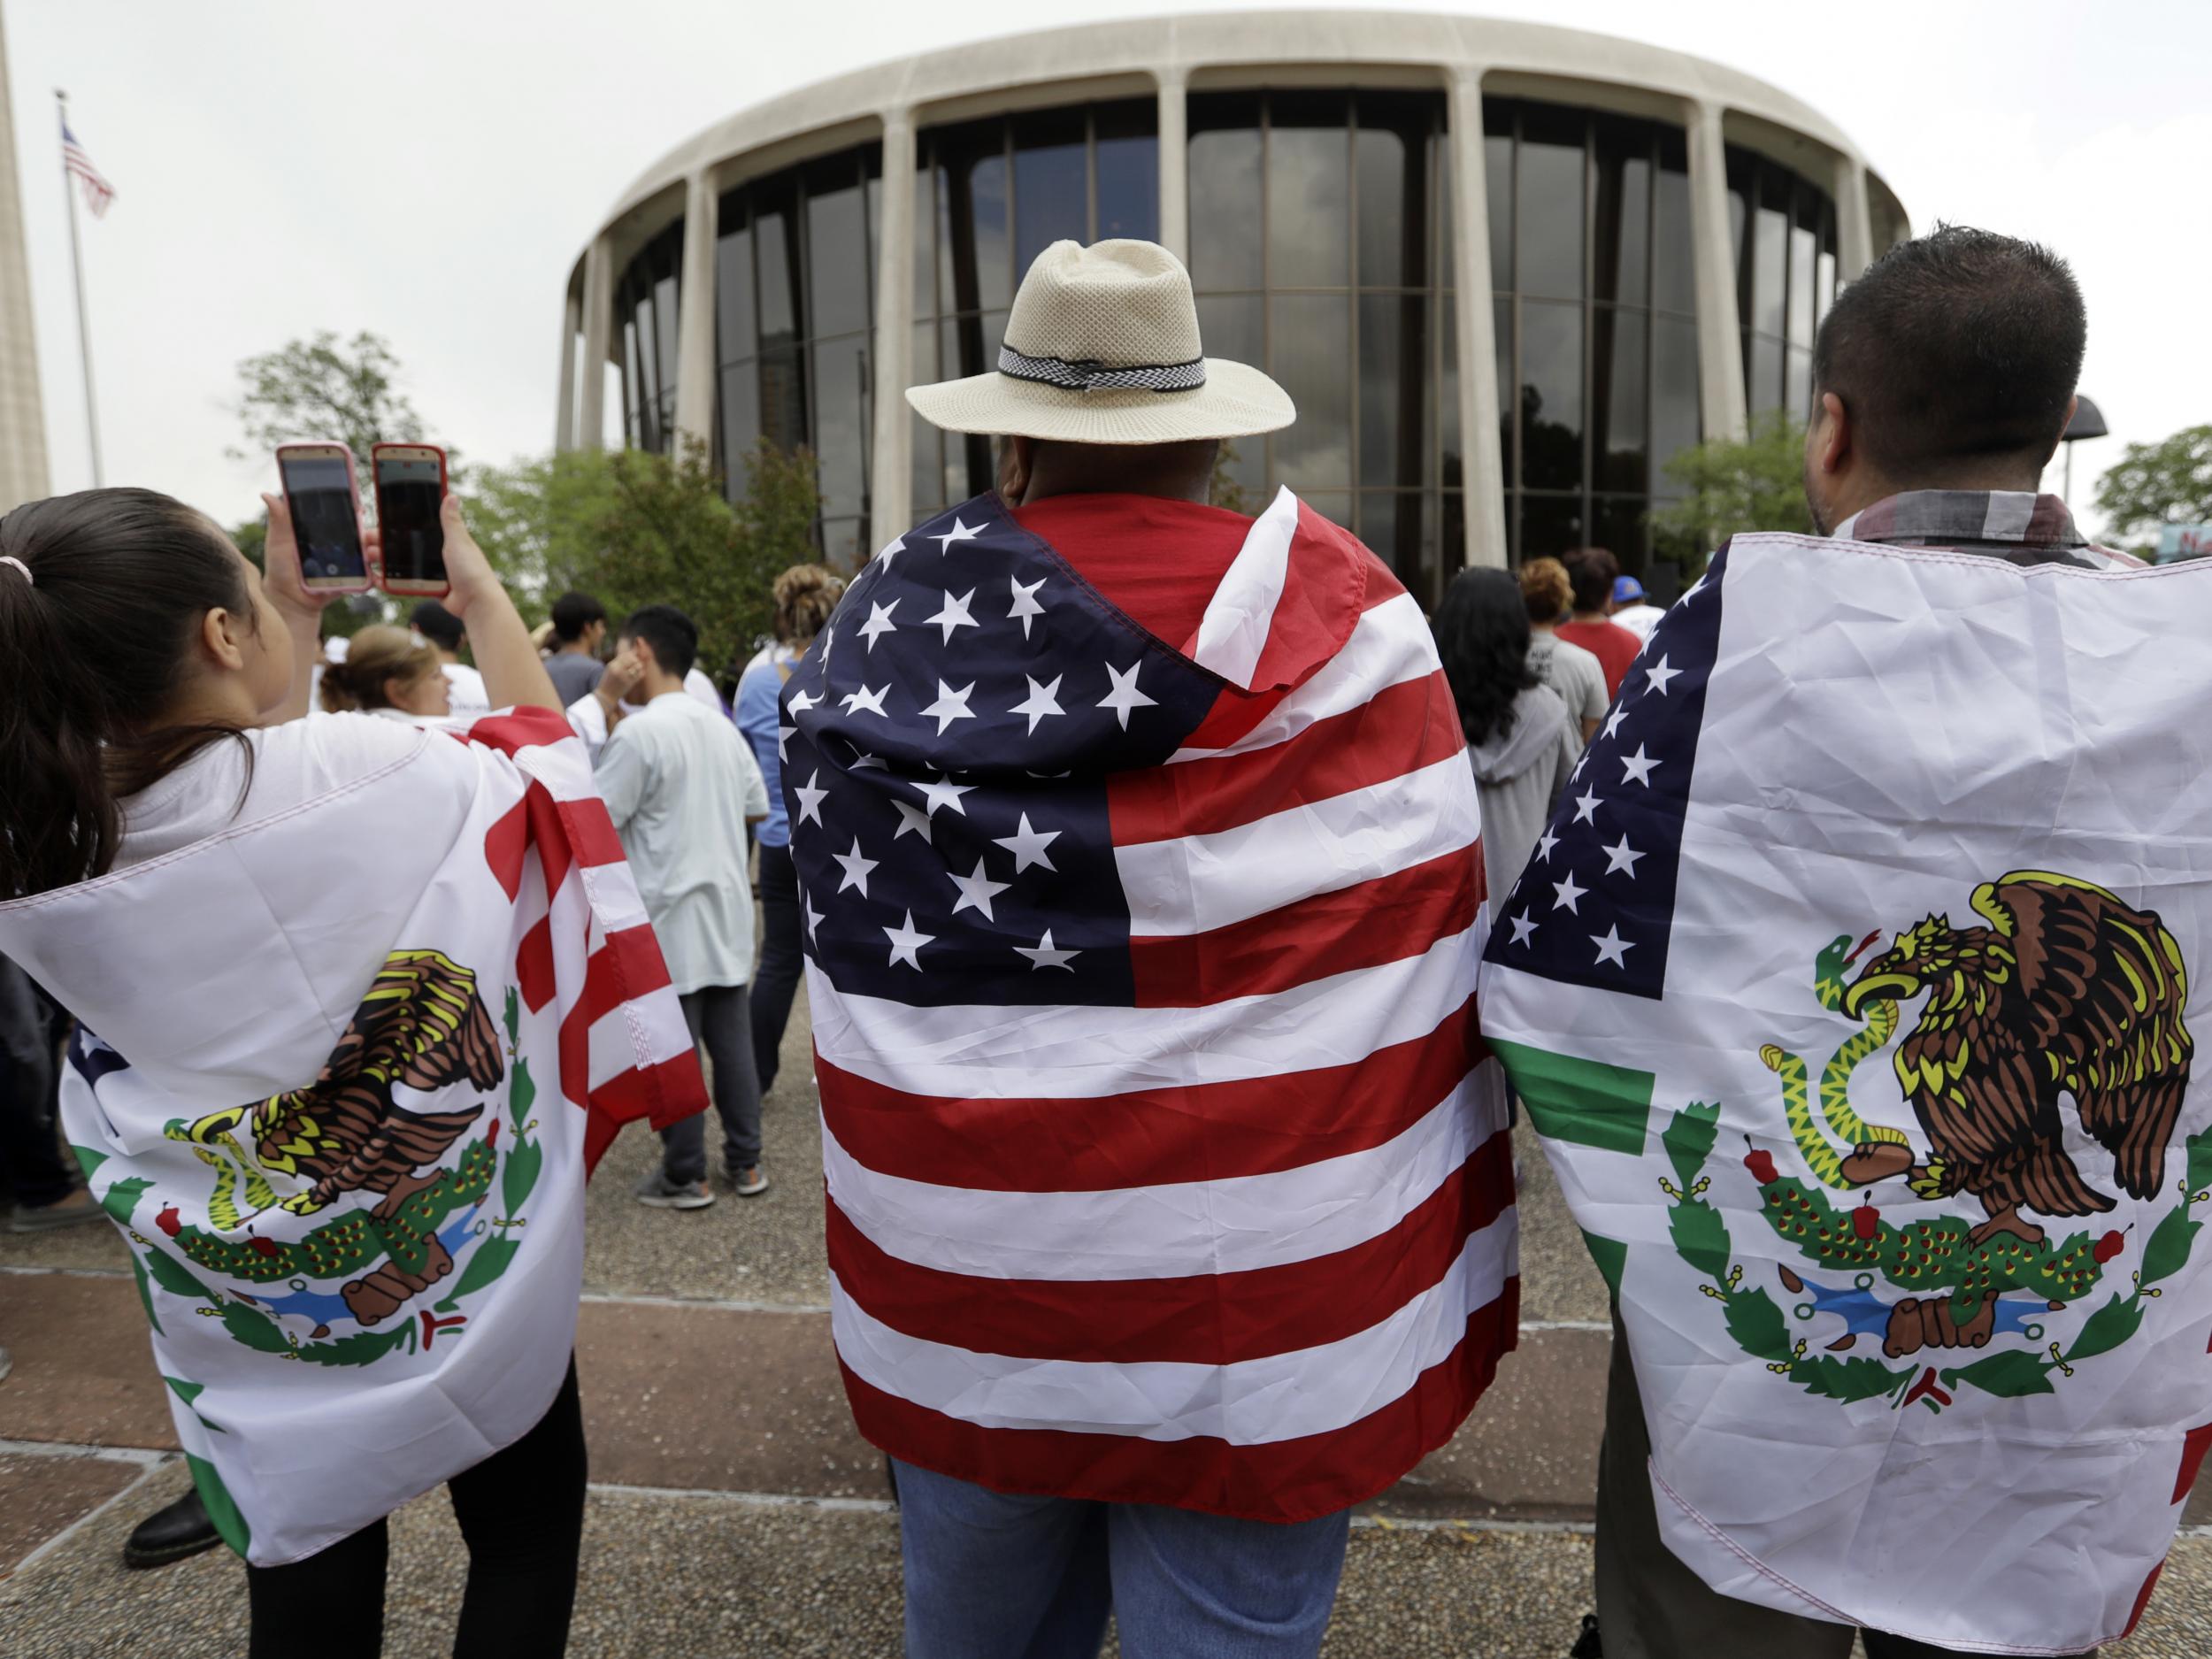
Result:
[[883,146],[807,161],[730,190],[714,248],[717,453],[732,498],[765,438],[807,449],[821,549],[858,568],[874,465],[876,237]]

